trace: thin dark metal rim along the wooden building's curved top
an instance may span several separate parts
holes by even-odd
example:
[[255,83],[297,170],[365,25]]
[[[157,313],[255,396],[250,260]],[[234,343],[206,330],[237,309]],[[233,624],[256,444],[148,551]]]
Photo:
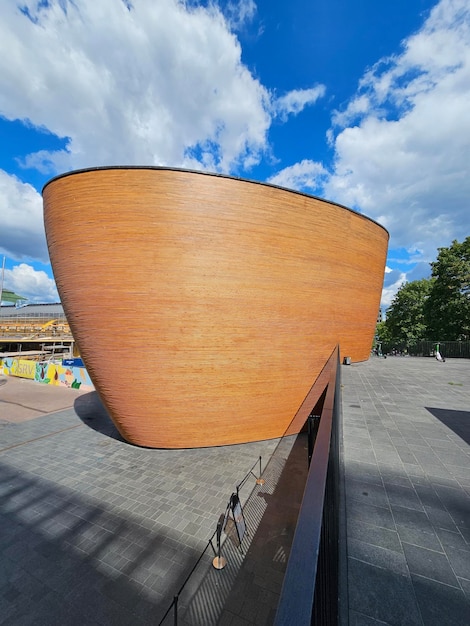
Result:
[[83,174],[85,172],[96,172],[96,171],[102,171],[102,170],[163,170],[163,171],[169,171],[169,172],[187,172],[189,174],[201,174],[203,176],[214,176],[214,177],[218,177],[218,178],[228,178],[231,180],[239,180],[241,182],[244,183],[251,183],[253,185],[263,185],[264,187],[272,187],[274,189],[281,189],[282,191],[288,191],[289,193],[295,193],[299,196],[305,196],[306,198],[313,198],[314,200],[319,200],[320,202],[327,202],[328,204],[333,204],[337,207],[340,207],[341,209],[344,209],[345,211],[350,211],[351,213],[354,213],[354,215],[358,215],[359,217],[362,217],[365,220],[368,220],[369,222],[372,222],[373,224],[376,224],[377,226],[380,226],[380,228],[382,228],[388,235],[388,238],[390,238],[390,233],[388,232],[388,230],[385,228],[385,226],[383,226],[382,224],[380,224],[379,222],[376,222],[374,219],[372,219],[371,217],[368,217],[367,215],[364,215],[364,213],[360,213],[359,211],[356,211],[355,209],[351,209],[350,207],[345,206],[344,204],[340,204],[339,202],[334,202],[332,200],[326,200],[325,198],[320,198],[319,196],[314,196],[312,194],[306,193],[305,191],[298,191],[296,189],[289,189],[288,187],[282,187],[281,185],[273,185],[272,183],[267,183],[264,181],[260,181],[260,180],[252,180],[250,178],[243,178],[242,176],[232,176],[230,174],[221,174],[219,172],[206,172],[204,170],[193,170],[193,169],[187,169],[184,167],[169,167],[169,166],[165,166],[165,165],[100,165],[97,167],[84,167],[82,169],[78,169],[78,170],[71,170],[70,172],[64,172],[63,174],[58,174],[57,176],[54,176],[53,178],[51,178],[50,180],[47,181],[47,183],[43,186],[41,193],[44,193],[44,189],[52,182],[54,182],[55,180],[58,180],[59,178],[65,178],[66,176],[73,176],[75,174]]

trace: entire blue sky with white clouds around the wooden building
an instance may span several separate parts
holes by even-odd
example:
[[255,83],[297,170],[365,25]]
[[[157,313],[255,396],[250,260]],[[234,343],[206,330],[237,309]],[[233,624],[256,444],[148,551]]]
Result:
[[160,165],[272,182],[390,232],[382,304],[470,234],[468,0],[0,3],[4,287],[58,301],[41,189]]

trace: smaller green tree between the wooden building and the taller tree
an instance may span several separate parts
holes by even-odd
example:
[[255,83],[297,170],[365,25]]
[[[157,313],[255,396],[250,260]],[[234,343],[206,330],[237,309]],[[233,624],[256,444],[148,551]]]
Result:
[[427,338],[424,306],[433,282],[432,278],[422,278],[399,288],[387,310],[385,321],[389,347],[403,350]]

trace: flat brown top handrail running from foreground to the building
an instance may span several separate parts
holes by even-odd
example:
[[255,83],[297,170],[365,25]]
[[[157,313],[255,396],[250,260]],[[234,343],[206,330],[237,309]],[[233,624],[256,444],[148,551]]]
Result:
[[328,386],[274,626],[312,623],[338,363],[337,347],[325,365],[329,370]]

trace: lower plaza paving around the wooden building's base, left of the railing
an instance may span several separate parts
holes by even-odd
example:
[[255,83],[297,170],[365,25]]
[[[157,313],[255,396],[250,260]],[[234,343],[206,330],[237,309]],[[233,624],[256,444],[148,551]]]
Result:
[[[291,451],[299,445],[297,470]],[[178,623],[231,621],[243,608],[233,605],[232,592],[245,586],[240,572],[260,524],[265,558],[247,574],[258,580],[244,593],[243,610],[252,623],[269,623],[306,455],[296,437],[207,449],[139,448],[121,439],[96,392],[0,377],[0,624],[158,624],[202,554],[180,596]],[[266,482],[257,486],[260,456]],[[243,554],[233,529],[223,535],[228,563],[219,571],[208,541],[246,476],[240,499],[249,534]],[[290,500],[282,506],[286,489]],[[287,530],[279,511],[288,516]],[[173,624],[172,612],[164,624]]]

